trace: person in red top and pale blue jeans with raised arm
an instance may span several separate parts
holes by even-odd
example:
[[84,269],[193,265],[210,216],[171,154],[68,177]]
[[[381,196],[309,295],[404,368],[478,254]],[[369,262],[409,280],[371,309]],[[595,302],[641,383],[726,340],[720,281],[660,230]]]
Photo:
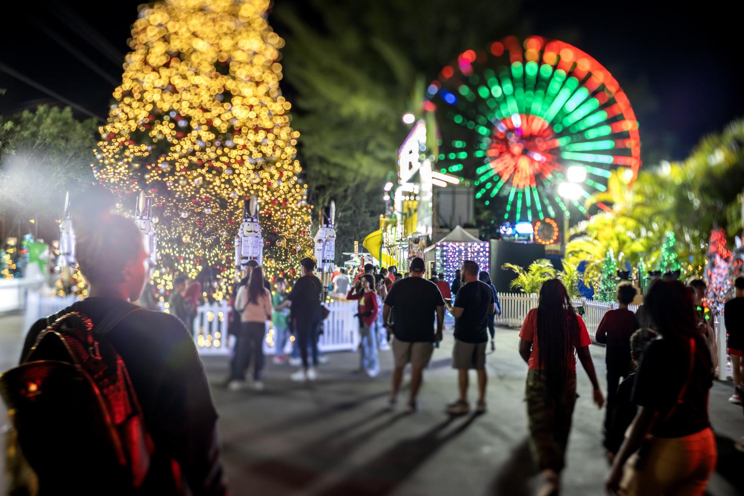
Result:
[[359,300],[357,316],[359,317],[359,336],[361,338],[359,369],[370,377],[379,373],[377,358],[377,338],[374,331],[377,320],[377,294],[374,290],[374,277],[364,274],[353,289],[346,295],[347,300]]

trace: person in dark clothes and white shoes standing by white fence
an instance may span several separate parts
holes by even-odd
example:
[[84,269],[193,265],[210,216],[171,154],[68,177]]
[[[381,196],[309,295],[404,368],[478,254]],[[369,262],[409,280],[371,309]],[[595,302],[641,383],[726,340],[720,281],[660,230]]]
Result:
[[[295,346],[300,347],[302,368],[291,376],[292,381],[314,381],[318,379],[318,326],[321,325],[322,311],[321,302],[323,298],[323,283],[313,273],[315,271],[315,260],[305,257],[300,261],[302,265],[302,277],[296,282],[289,293],[292,301],[290,318],[293,321],[292,329],[295,329],[297,341]],[[311,352],[312,366],[308,361],[308,349]]]

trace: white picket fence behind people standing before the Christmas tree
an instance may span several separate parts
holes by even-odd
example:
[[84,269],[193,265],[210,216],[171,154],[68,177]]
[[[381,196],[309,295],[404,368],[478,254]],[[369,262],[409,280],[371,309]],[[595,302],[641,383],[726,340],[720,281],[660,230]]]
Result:
[[[326,303],[330,314],[323,321],[323,334],[318,341],[318,350],[322,352],[356,350],[359,347],[359,322],[356,314],[356,301],[330,300]],[[194,319],[194,342],[199,353],[205,355],[228,355],[234,347],[234,338],[225,341],[227,336],[228,314],[231,312],[226,302],[202,305],[196,310]],[[275,355],[276,347],[266,326],[266,339],[263,341],[263,352]]]

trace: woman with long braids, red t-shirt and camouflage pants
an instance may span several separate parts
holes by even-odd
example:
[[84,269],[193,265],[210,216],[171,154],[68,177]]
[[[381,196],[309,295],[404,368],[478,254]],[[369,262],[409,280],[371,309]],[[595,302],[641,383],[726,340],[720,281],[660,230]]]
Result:
[[560,473],[571,432],[576,393],[576,356],[594,388],[594,404],[604,405],[586,325],[574,312],[565,286],[542,283],[536,309],[527,312],[519,331],[519,355],[527,363],[527,426],[530,448],[540,471],[541,493],[558,494]]

